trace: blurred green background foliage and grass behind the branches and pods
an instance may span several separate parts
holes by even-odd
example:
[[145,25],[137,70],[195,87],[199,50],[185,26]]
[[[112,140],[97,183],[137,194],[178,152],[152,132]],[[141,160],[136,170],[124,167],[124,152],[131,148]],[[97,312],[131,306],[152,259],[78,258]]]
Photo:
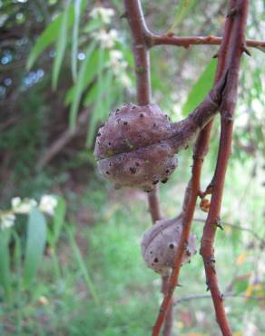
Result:
[[[156,33],[221,35],[227,1],[142,3]],[[136,99],[123,4],[5,0],[0,11],[1,209],[9,209],[16,195],[39,199],[54,193],[67,203],[60,239],[56,244],[47,239],[30,288],[20,282],[20,245],[10,241],[12,298],[5,300],[2,288],[0,333],[149,334],[161,294],[160,279],[145,269],[139,249],[142,232],[151,224],[146,197],[114,191],[96,172],[93,159],[98,126],[119,104]],[[264,0],[250,3],[249,38],[265,40],[264,13]],[[202,45],[152,49],[152,99],[173,120],[188,114],[211,87],[216,65],[211,57],[217,50]],[[262,50],[250,52],[241,66],[222,208],[226,225],[216,242],[222,291],[255,297],[226,301],[234,334],[248,336],[265,333],[265,62]],[[204,186],[211,181],[217,155],[216,119]],[[165,216],[180,211],[191,173],[191,149],[180,156],[179,169],[161,188]],[[203,218],[198,211],[196,219]],[[199,242],[201,229],[195,221]],[[6,230],[10,236],[20,232],[17,224]],[[197,254],[182,270],[183,287],[176,291],[178,298],[195,298],[175,308],[175,334],[219,335],[211,300],[196,298],[205,294],[204,282]]]

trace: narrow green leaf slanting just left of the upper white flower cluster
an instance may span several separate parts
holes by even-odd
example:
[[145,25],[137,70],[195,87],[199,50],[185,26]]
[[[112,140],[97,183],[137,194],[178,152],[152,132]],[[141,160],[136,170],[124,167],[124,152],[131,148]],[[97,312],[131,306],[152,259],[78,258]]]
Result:
[[89,61],[90,61],[90,57],[93,53],[95,46],[96,46],[95,41],[89,44],[89,47],[87,48],[87,51],[85,53],[85,59],[83,60],[83,64],[78,74],[76,91],[74,94],[74,101],[73,101],[73,104],[71,105],[71,110],[70,110],[70,129],[71,130],[74,130],[75,128],[76,115],[77,115],[78,107],[81,101],[81,96],[83,94],[83,82],[85,79],[86,69],[90,66]]

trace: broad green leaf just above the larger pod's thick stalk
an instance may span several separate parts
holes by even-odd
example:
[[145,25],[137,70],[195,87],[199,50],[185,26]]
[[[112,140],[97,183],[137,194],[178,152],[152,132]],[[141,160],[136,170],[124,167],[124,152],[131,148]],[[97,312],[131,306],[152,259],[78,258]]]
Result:
[[182,114],[184,116],[191,113],[191,111],[202,102],[206,94],[208,94],[211,90],[216,66],[217,59],[212,58],[210,63],[205,67],[198,81],[191,88],[186,103],[182,107]]

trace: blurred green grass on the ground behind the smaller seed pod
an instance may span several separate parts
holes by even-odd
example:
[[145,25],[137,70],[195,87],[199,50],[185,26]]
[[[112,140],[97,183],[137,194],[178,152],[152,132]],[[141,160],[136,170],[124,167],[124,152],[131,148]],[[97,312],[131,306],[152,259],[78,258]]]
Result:
[[[234,222],[246,212],[246,221],[241,224],[264,236],[260,210],[263,191],[259,176],[251,180],[247,197],[243,198],[247,209],[235,213],[235,209],[242,206],[238,203],[248,179],[239,182],[240,166],[230,171],[227,183],[231,187],[226,191],[222,217]],[[175,173],[172,179],[175,187],[162,186],[163,212],[169,216],[181,207],[185,185],[182,179],[186,178],[185,174]],[[150,335],[162,295],[159,276],[144,266],[140,252],[142,232],[150,225],[144,196],[129,191],[113,192],[109,185],[102,186],[94,181],[83,194],[69,193],[67,197],[70,209],[67,226],[54,252],[44,257],[38,278],[29,291],[22,291],[19,272],[14,273],[13,302],[2,302],[0,308],[0,334]],[[85,212],[87,220],[78,219],[81,212]],[[197,212],[196,217],[202,218],[205,214]],[[194,223],[193,231],[200,242],[202,224]],[[259,275],[264,291],[259,271],[264,266],[264,252],[257,246],[250,248],[250,243],[253,240],[248,232],[229,227],[217,232],[215,252],[222,291],[235,274]],[[247,252],[246,260],[237,264],[242,251]],[[182,287],[176,289],[176,297],[209,293],[205,292],[200,254],[182,268],[180,282]],[[232,292],[244,293],[248,285],[249,280],[235,283]],[[46,299],[44,305],[42,297]],[[256,334],[262,335],[264,301],[234,298],[227,299],[226,305],[235,334],[245,335],[243,331],[252,323],[257,328]],[[220,335],[211,300],[180,303],[175,308],[173,330],[173,335],[192,332]]]

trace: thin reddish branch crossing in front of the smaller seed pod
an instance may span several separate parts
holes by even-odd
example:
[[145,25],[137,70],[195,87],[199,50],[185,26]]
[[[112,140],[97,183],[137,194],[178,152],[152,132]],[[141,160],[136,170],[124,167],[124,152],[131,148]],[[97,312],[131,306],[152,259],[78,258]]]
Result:
[[[235,5],[235,0],[231,0],[229,5],[229,10],[232,9],[233,5]],[[219,60],[217,71],[215,75],[215,83],[217,83],[221,79],[221,75],[224,73],[226,68],[226,59],[227,59],[227,44],[230,40],[231,35],[231,18],[228,17],[224,26],[224,34],[222,38],[221,48],[219,51]],[[201,168],[203,163],[203,158],[208,152],[208,143],[211,134],[211,125],[212,121],[204,127],[201,133],[198,136],[198,139],[193,148],[193,165],[192,165],[192,173],[191,180],[188,183],[185,198],[183,202],[183,230],[182,236],[179,243],[178,251],[175,256],[175,267],[172,270],[172,275],[169,284],[168,293],[164,296],[164,300],[162,301],[161,309],[159,311],[158,318],[153,327],[152,336],[158,336],[162,327],[162,322],[165,319],[167,310],[171,306],[172,295],[175,286],[178,283],[179,273],[182,264],[182,254],[185,249],[186,242],[188,242],[190,231],[191,231],[191,222],[193,218],[193,214],[195,211],[197,197],[201,190],[200,180],[201,180]],[[222,311],[224,309],[222,308]],[[227,324],[227,323],[226,323]]]

